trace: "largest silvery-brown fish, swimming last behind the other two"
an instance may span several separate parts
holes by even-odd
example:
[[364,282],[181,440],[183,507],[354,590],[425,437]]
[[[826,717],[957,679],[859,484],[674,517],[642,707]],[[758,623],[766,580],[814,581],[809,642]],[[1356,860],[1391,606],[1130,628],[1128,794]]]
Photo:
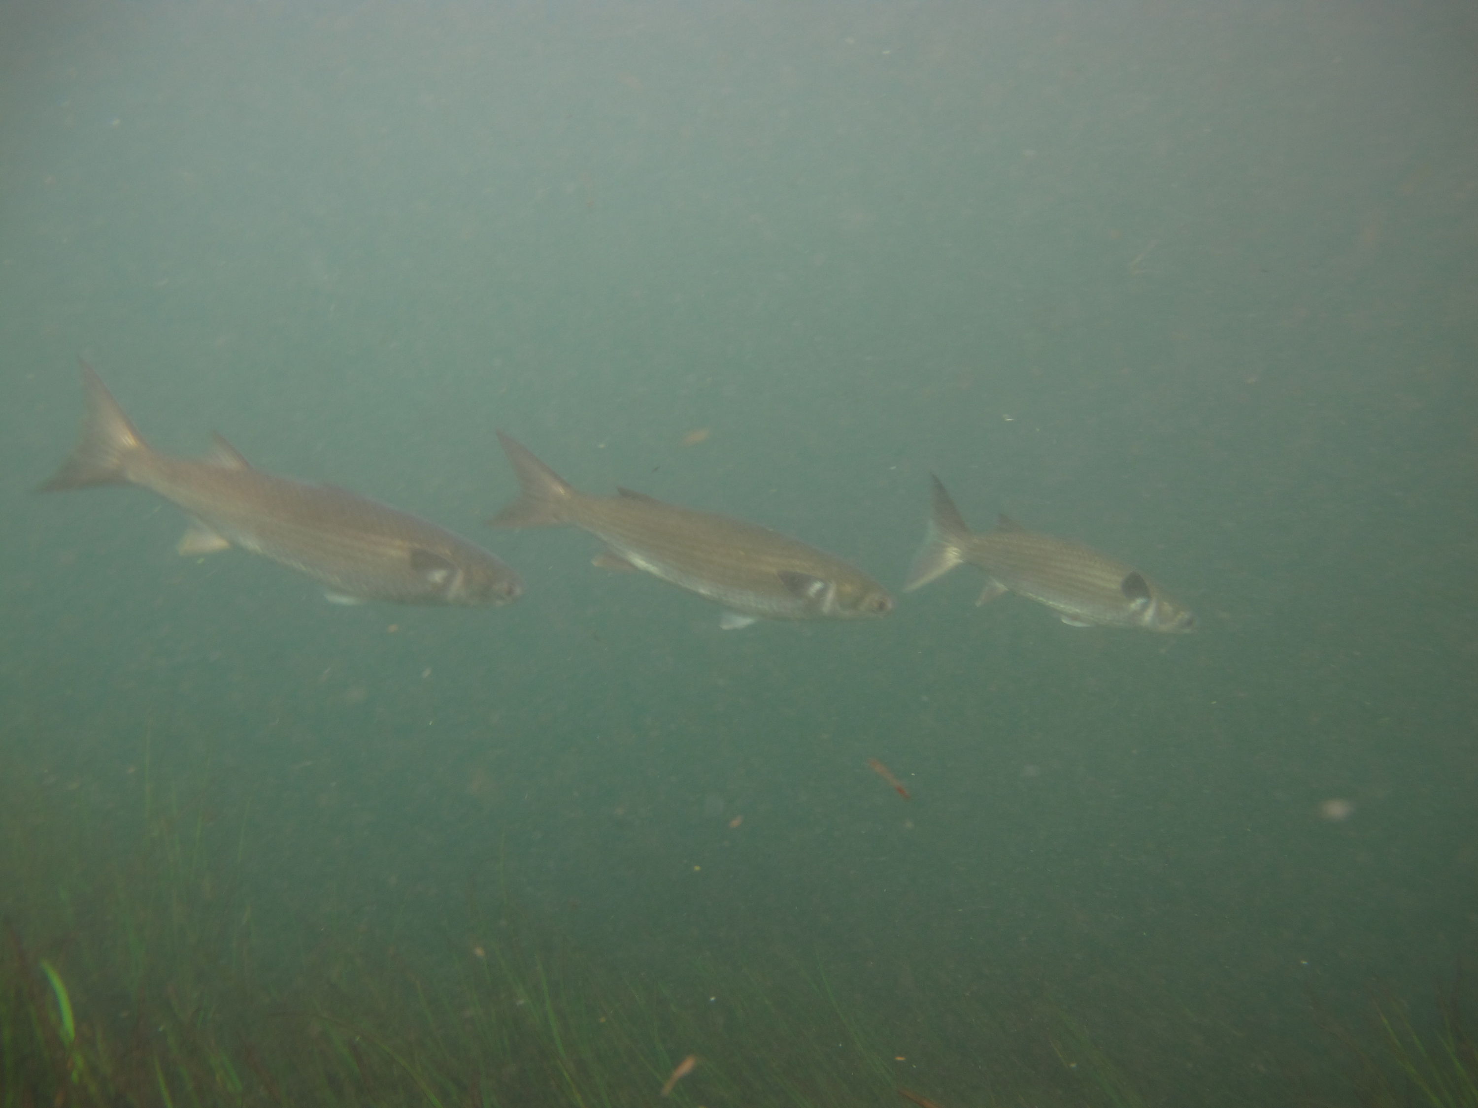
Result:
[[86,363],[83,389],[80,440],[41,492],[142,486],[191,517],[180,554],[239,547],[322,582],[340,603],[476,607],[523,592],[517,573],[482,547],[347,489],[256,470],[220,436],[202,459],[161,454]]

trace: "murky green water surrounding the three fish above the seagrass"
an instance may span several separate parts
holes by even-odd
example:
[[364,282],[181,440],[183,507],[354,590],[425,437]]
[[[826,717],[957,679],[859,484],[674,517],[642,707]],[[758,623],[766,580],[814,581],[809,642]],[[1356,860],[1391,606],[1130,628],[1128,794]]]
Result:
[[[519,932],[510,979],[550,944],[687,1022],[600,1096],[448,1046],[455,1102],[650,1102],[690,1052],[692,1105],[1366,1102],[1346,1037],[1423,1033],[1478,953],[1475,46],[1423,0],[0,7],[0,1031],[55,1022],[62,1104],[149,990],[259,1036],[337,990],[370,1037]],[[336,607],[180,558],[143,490],[34,496],[78,356],[155,445],[220,431],[525,597]],[[1199,629],[977,609],[967,567],[720,631],[485,529],[495,428],[896,595],[937,473]],[[334,1095],[454,1102],[387,1036]],[[331,1099],[262,1068],[121,1102]]]

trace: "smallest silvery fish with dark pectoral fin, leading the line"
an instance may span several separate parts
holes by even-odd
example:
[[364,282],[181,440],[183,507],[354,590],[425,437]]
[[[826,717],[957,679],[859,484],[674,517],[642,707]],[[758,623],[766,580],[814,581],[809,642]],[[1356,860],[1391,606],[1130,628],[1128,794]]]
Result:
[[927,585],[968,561],[989,581],[981,604],[1005,592],[1046,604],[1072,626],[1117,626],[1185,632],[1196,616],[1132,566],[1080,542],[1026,530],[1007,516],[996,530],[974,533],[933,479],[933,513],[906,589]]

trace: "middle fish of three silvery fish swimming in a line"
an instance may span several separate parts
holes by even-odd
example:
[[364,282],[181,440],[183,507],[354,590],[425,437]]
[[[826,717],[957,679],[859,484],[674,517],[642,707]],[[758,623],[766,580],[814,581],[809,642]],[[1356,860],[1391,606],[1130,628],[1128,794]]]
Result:
[[726,629],[755,619],[857,619],[893,609],[893,598],[871,576],[798,539],[628,489],[591,496],[513,437],[500,431],[498,439],[520,495],[491,524],[587,530],[606,545],[597,566],[641,570],[712,600],[726,609]]

